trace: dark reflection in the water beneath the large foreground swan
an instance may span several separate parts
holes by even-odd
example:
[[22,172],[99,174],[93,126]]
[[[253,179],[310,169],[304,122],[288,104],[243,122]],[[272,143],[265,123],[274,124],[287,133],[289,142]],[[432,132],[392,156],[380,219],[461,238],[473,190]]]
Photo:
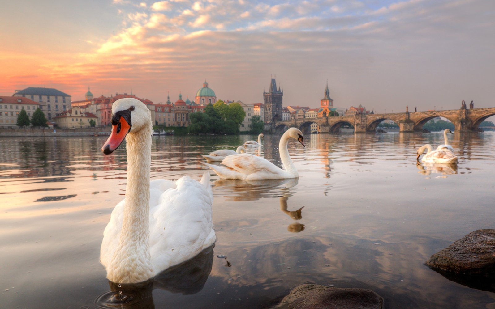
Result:
[[213,265],[213,244],[196,257],[170,267],[146,282],[117,284],[109,281],[110,290],[96,300],[97,308],[154,308],[153,289],[162,289],[183,295],[202,290]]

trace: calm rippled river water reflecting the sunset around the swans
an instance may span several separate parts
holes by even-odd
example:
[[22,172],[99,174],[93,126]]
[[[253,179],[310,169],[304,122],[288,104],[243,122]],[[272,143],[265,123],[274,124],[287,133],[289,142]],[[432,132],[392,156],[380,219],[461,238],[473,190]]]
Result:
[[[199,179],[199,154],[254,137],[154,136],[151,177]],[[279,138],[250,151],[280,165]],[[127,290],[99,264],[126,183],[125,147],[104,156],[105,139],[0,138],[1,308],[121,308],[122,298],[135,308],[269,308],[302,283],[371,289],[385,308],[495,308],[493,288],[424,265],[495,228],[494,132],[453,135],[457,169],[416,165],[416,149],[443,143],[440,133],[313,134],[306,147],[289,143],[298,179],[212,173],[214,248]]]

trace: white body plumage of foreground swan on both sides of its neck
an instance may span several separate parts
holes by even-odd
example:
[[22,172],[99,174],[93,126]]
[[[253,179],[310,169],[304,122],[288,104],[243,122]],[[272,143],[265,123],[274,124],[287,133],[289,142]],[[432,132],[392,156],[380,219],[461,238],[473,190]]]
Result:
[[[187,261],[215,242],[213,192],[209,174],[200,182],[184,176],[177,181],[150,182],[149,253],[154,275]],[[103,232],[100,261],[109,265],[119,242],[125,199],[115,206]]]

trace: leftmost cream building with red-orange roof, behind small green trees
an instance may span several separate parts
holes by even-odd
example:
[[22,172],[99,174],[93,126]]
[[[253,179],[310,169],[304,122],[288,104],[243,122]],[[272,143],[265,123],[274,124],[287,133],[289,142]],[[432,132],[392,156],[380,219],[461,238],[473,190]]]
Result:
[[25,110],[31,119],[34,111],[40,106],[27,97],[0,96],[0,128],[17,128],[17,116]]

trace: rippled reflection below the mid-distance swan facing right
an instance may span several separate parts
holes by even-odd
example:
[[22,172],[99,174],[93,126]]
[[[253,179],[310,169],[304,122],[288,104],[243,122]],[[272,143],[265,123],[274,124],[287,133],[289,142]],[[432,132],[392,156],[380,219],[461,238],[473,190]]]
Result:
[[[292,188],[297,185],[298,178],[287,179],[265,179],[265,180],[238,180],[219,179],[215,181],[215,188],[228,188],[227,200],[233,201],[255,201],[262,198],[279,197],[280,210],[293,220],[302,219],[301,207],[295,211],[289,211],[287,201],[295,192]],[[287,230],[298,233],[304,230],[304,224],[294,222]]]

